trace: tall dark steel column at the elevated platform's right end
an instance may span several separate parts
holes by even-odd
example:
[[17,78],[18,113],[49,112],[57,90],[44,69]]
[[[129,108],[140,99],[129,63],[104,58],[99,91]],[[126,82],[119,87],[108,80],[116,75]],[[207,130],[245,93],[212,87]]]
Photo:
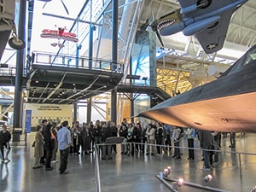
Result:
[[[112,1],[112,19],[113,19],[113,30],[112,30],[112,70],[115,71],[117,68],[118,61],[118,16],[119,16],[119,1]],[[116,123],[117,119],[117,88],[115,87],[111,91],[111,120]]]

